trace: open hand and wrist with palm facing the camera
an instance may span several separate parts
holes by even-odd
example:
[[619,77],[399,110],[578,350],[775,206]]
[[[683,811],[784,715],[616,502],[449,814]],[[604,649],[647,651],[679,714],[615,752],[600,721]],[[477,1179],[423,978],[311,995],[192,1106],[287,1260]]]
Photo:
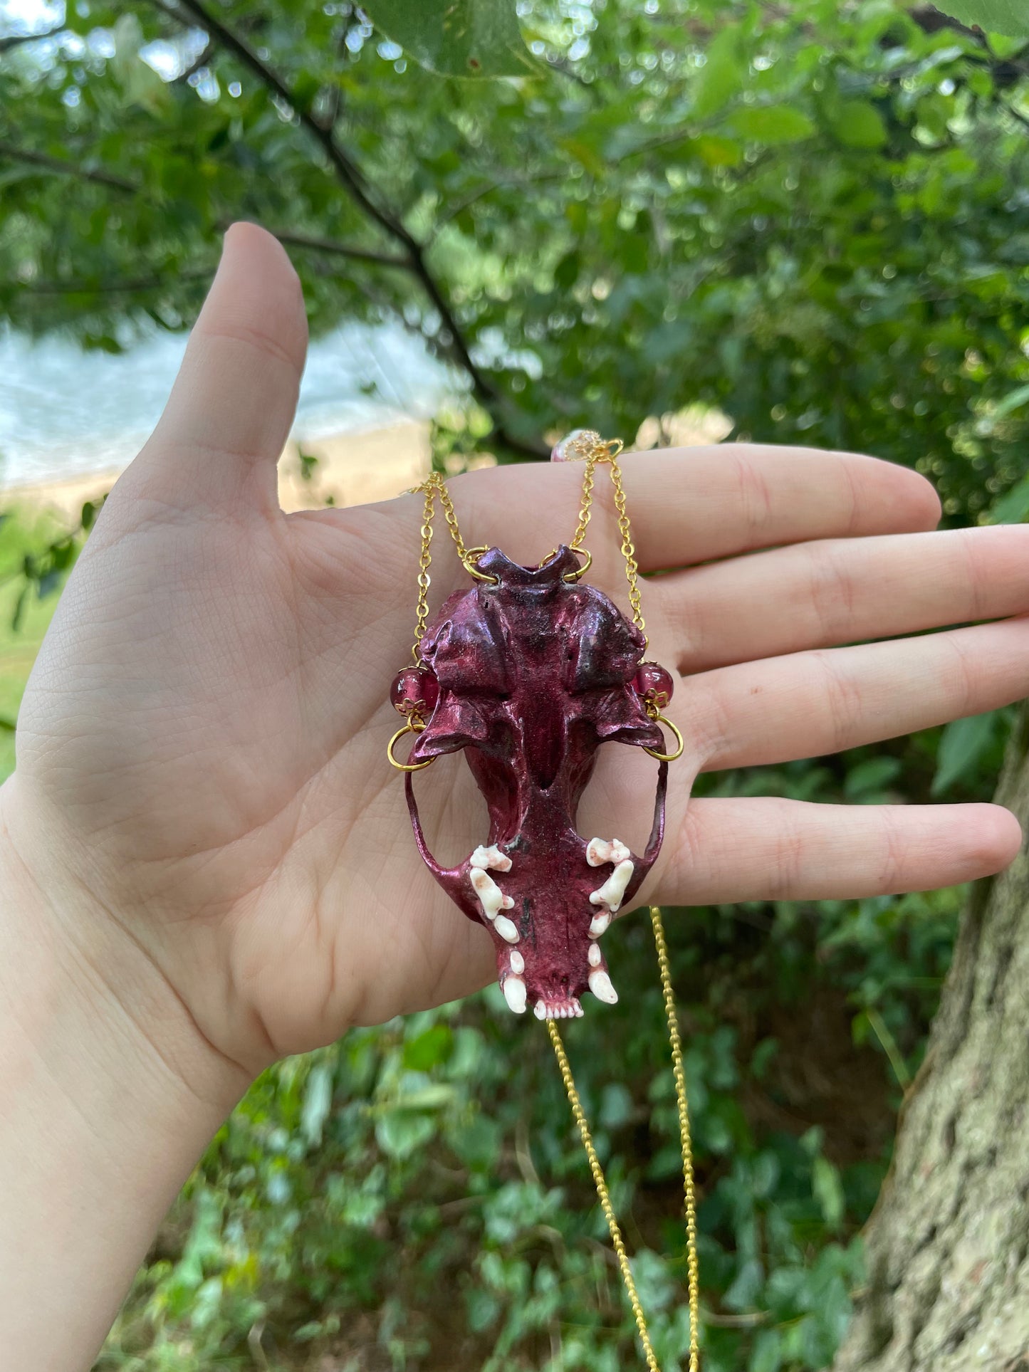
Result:
[[[236,226],[25,696],[0,789],[10,1367],[89,1367],[165,1209],[268,1063],[494,974],[486,932],[423,868],[384,759],[421,497],[277,505],[305,347],[285,254]],[[641,565],[667,573],[643,605],[650,654],[683,674],[668,713],[687,740],[643,900],[892,893],[1007,864],[1019,829],[995,805],[687,796],[702,770],[1029,693],[1029,528],[932,532],[940,506],[921,476],[848,453],[724,445],[623,469]],[[466,542],[538,561],[573,530],[579,480],[573,464],[456,479]],[[438,530],[432,605],[465,583]],[[591,579],[624,605],[602,480],[586,543]],[[984,623],[921,632],[970,622]],[[638,841],[649,822],[653,763],[624,752],[600,768],[583,833]],[[449,763],[418,779],[443,859],[484,838]]]

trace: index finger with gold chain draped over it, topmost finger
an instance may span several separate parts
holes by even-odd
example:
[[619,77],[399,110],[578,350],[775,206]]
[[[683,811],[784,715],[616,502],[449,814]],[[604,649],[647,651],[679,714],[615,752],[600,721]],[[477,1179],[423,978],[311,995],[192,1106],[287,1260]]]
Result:
[[[582,462],[525,464],[456,479],[466,543],[543,557],[575,530]],[[630,453],[622,458],[643,571],[686,567],[805,539],[927,530],[940,502],[916,472],[856,453],[760,443]],[[597,468],[586,546],[617,550],[611,482]]]

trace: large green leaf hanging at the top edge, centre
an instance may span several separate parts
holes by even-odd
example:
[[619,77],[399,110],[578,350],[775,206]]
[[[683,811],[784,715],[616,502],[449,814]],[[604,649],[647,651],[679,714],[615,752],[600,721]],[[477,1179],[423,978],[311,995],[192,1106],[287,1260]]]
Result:
[[368,0],[362,8],[420,66],[443,77],[524,77],[541,69],[514,0]]

